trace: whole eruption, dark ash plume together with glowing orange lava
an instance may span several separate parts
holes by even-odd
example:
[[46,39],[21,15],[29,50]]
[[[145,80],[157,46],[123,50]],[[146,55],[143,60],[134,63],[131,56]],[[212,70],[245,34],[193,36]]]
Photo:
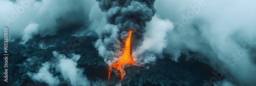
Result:
[[125,63],[140,63],[134,61],[131,56],[131,49],[136,49],[131,48],[131,40],[132,47],[140,45],[143,41],[142,34],[145,32],[146,22],[150,22],[156,13],[155,0],[96,1],[99,2],[101,11],[106,12],[108,24],[97,32],[99,39],[95,42],[95,48],[110,66],[109,78],[112,69],[115,68],[117,77],[121,76],[122,80],[125,75],[123,69],[127,67],[124,66]]

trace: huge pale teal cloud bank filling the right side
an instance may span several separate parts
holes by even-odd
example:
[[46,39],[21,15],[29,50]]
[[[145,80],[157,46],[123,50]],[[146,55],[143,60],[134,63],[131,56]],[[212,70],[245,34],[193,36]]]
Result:
[[155,8],[175,23],[164,50],[173,60],[183,53],[208,63],[218,75],[207,85],[223,77],[236,85],[256,84],[255,1],[165,0]]

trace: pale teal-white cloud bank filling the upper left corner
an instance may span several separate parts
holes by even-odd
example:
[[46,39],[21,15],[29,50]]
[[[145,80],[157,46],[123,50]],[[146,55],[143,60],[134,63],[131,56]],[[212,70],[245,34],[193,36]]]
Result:
[[9,39],[23,37],[20,32],[30,24],[39,25],[40,36],[54,35],[63,25],[89,25],[89,12],[94,3],[96,1],[1,0],[0,26],[9,28]]

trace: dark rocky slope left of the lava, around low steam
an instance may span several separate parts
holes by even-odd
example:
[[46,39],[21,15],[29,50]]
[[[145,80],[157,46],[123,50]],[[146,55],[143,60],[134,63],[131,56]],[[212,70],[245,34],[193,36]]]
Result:
[[[60,54],[65,54],[69,57],[72,53],[81,55],[77,61],[79,68],[86,68],[84,74],[91,76],[92,72],[99,70],[98,68],[107,68],[104,60],[99,57],[98,51],[93,46],[93,42],[97,37],[75,37],[70,35],[53,35],[47,37],[34,37],[26,42],[25,45],[20,45],[20,40],[8,43],[8,83],[2,85],[27,85],[28,82],[34,83],[28,78],[28,72],[36,73],[41,64],[46,61],[55,61],[52,52],[57,51]],[[3,42],[1,43],[3,45]],[[4,50],[3,48],[1,50]],[[1,52],[3,55],[4,53]],[[31,58],[32,62],[27,59]],[[4,64],[1,61],[1,64]],[[1,76],[4,68],[1,67]],[[101,71],[102,72],[102,71]],[[105,76],[108,77],[108,70],[105,70]],[[102,77],[102,76],[101,76]],[[95,76],[88,78],[97,78]],[[1,81],[1,83],[4,83]]]

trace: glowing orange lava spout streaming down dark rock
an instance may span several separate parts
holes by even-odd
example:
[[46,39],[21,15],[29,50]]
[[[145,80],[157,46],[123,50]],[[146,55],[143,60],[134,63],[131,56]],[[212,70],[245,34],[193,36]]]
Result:
[[[114,63],[110,69],[109,69],[109,80],[110,80],[110,73],[112,71],[112,68],[116,68],[116,74],[121,75],[121,80],[123,80],[123,76],[125,75],[125,72],[123,71],[123,68],[122,65],[124,63],[131,63],[131,64],[134,64],[133,62],[133,58],[132,56],[130,55],[130,52],[131,52],[131,35],[132,35],[132,31],[130,31],[130,34],[129,34],[129,37],[126,39],[125,41],[125,47],[124,47],[124,51],[123,51],[123,55],[122,55],[122,59],[119,60],[118,62]],[[118,70],[121,72],[118,73]],[[118,77],[117,76],[117,77]]]

